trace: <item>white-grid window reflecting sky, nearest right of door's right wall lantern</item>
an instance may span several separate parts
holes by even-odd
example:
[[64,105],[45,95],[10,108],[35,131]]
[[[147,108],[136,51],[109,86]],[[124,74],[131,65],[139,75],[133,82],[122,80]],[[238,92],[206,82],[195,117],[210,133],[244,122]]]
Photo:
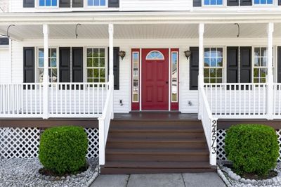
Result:
[[204,82],[223,82],[223,48],[204,49]]

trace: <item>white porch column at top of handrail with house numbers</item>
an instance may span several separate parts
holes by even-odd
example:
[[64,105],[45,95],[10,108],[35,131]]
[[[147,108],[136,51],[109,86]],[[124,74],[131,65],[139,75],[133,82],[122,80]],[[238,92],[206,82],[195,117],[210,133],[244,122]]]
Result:
[[[199,24],[199,71],[198,71],[198,91],[200,91],[200,86],[204,84],[204,23]],[[202,112],[202,101],[199,98],[199,107],[198,107],[198,119],[201,119]]]

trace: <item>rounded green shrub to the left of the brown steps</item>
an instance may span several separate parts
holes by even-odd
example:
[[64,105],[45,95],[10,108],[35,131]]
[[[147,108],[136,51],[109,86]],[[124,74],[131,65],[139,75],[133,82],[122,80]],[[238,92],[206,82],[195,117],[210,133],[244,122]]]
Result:
[[53,127],[40,138],[39,160],[55,174],[75,174],[86,166],[88,139],[81,127]]

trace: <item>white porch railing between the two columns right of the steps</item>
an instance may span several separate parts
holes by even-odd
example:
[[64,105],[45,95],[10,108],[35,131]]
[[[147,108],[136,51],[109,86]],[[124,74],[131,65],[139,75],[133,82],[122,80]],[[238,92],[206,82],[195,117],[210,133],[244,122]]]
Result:
[[218,118],[266,118],[267,89],[256,83],[204,84],[211,113]]

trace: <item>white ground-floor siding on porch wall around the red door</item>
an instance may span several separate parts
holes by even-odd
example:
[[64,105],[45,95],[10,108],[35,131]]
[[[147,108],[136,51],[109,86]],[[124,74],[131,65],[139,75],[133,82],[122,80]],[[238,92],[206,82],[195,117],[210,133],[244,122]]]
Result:
[[[131,49],[132,48],[178,48],[179,49],[179,105],[181,112],[197,112],[198,91],[189,90],[189,60],[183,54],[189,46],[197,46],[197,39],[115,39],[115,46],[126,51],[124,60],[120,59],[119,90],[115,91],[115,112],[131,110]],[[205,46],[266,46],[266,39],[205,39]],[[275,46],[281,45],[281,39],[274,40]],[[12,81],[22,82],[23,46],[43,46],[43,39],[13,41],[12,44]],[[50,39],[50,46],[108,46],[108,39]],[[225,53],[226,54],[226,53]],[[224,56],[226,58],[226,55]],[[225,59],[226,60],[226,59]],[[274,58],[275,60],[275,58]],[[275,60],[276,61],[276,60]],[[226,71],[226,62],[224,61]],[[276,70],[276,69],[275,69]],[[119,104],[123,101],[123,105]],[[192,105],[188,105],[188,102]]]

